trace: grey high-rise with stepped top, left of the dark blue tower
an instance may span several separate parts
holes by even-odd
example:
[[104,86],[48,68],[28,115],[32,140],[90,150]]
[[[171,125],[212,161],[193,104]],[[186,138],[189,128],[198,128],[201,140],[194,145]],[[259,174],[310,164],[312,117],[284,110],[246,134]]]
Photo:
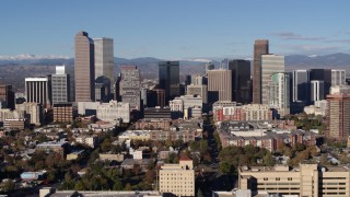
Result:
[[136,66],[121,67],[120,94],[122,103],[130,104],[130,111],[140,111],[140,70]]

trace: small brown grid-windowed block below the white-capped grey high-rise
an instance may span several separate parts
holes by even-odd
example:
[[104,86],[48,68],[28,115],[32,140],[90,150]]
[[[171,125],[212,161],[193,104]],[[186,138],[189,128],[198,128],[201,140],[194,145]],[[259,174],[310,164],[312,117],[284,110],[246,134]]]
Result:
[[74,115],[73,105],[71,103],[54,104],[54,121],[72,123]]

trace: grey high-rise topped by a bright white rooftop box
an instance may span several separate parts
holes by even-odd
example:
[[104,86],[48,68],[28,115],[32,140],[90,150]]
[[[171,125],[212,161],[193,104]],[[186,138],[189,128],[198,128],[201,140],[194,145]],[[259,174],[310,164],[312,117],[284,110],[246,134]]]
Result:
[[65,66],[57,66],[51,78],[52,104],[70,102],[70,77]]

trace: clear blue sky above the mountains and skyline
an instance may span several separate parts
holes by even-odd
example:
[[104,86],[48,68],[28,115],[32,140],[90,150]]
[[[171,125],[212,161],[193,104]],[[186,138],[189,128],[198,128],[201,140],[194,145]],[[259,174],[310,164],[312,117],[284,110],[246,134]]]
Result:
[[81,30],[114,38],[124,58],[249,58],[257,38],[279,55],[350,54],[349,10],[349,0],[3,0],[0,55],[73,57]]

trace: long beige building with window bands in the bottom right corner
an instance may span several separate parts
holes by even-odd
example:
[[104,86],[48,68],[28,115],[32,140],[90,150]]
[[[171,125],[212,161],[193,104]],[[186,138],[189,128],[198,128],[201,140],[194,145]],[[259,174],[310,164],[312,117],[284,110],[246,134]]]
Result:
[[319,167],[317,164],[300,164],[299,167],[276,165],[238,167],[240,189],[253,194],[296,195],[302,197],[350,196],[350,170],[347,166]]

